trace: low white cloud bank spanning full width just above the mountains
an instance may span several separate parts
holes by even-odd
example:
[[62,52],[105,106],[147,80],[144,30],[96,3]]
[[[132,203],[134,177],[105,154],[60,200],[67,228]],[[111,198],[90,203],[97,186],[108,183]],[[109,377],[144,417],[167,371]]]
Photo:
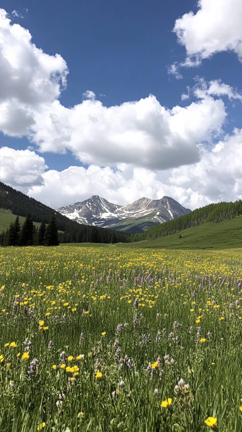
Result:
[[235,129],[211,150],[201,147],[200,153],[199,162],[165,171],[120,164],[118,169],[90,165],[58,172],[45,171],[44,159],[35,152],[3,148],[0,180],[54,208],[96,194],[120,204],[168,195],[191,209],[241,199],[242,130]]

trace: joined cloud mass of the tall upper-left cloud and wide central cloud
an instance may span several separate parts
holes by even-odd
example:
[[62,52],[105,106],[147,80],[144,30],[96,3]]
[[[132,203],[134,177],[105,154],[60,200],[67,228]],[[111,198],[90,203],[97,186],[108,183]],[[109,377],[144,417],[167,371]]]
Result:
[[0,62],[0,130],[26,135],[41,152],[69,150],[86,164],[191,164],[199,159],[199,144],[219,134],[226,118],[223,101],[208,94],[183,108],[167,109],[154,95],[106,107],[87,90],[80,104],[66,108],[58,100],[66,62],[36,48],[29,31],[12,25],[3,9]]

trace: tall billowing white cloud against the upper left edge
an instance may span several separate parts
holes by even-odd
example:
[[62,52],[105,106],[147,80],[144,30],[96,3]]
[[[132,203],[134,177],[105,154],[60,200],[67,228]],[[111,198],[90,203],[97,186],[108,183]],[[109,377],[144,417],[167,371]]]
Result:
[[35,123],[41,103],[59,97],[66,86],[67,64],[59,54],[51,56],[36,48],[29,30],[11,25],[3,9],[0,64],[0,128],[8,135],[21,136]]

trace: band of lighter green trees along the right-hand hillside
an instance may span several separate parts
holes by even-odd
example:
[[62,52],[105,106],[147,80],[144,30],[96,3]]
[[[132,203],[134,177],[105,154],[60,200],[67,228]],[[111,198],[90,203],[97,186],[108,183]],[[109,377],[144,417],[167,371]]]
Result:
[[209,204],[161,225],[154,225],[142,234],[131,234],[130,241],[156,240],[165,235],[175,234],[182,231],[182,229],[191,228],[202,223],[224,222],[236,216],[242,216],[242,200],[234,203]]

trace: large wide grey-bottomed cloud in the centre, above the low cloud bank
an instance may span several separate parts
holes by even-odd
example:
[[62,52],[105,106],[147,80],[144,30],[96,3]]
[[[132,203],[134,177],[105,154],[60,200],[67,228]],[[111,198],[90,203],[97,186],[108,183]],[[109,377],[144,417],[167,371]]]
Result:
[[32,140],[42,152],[69,149],[86,164],[166,169],[197,161],[197,144],[220,133],[225,117],[223,101],[207,95],[172,110],[153,95],[109,108],[94,99],[71,109],[55,101],[35,115]]

